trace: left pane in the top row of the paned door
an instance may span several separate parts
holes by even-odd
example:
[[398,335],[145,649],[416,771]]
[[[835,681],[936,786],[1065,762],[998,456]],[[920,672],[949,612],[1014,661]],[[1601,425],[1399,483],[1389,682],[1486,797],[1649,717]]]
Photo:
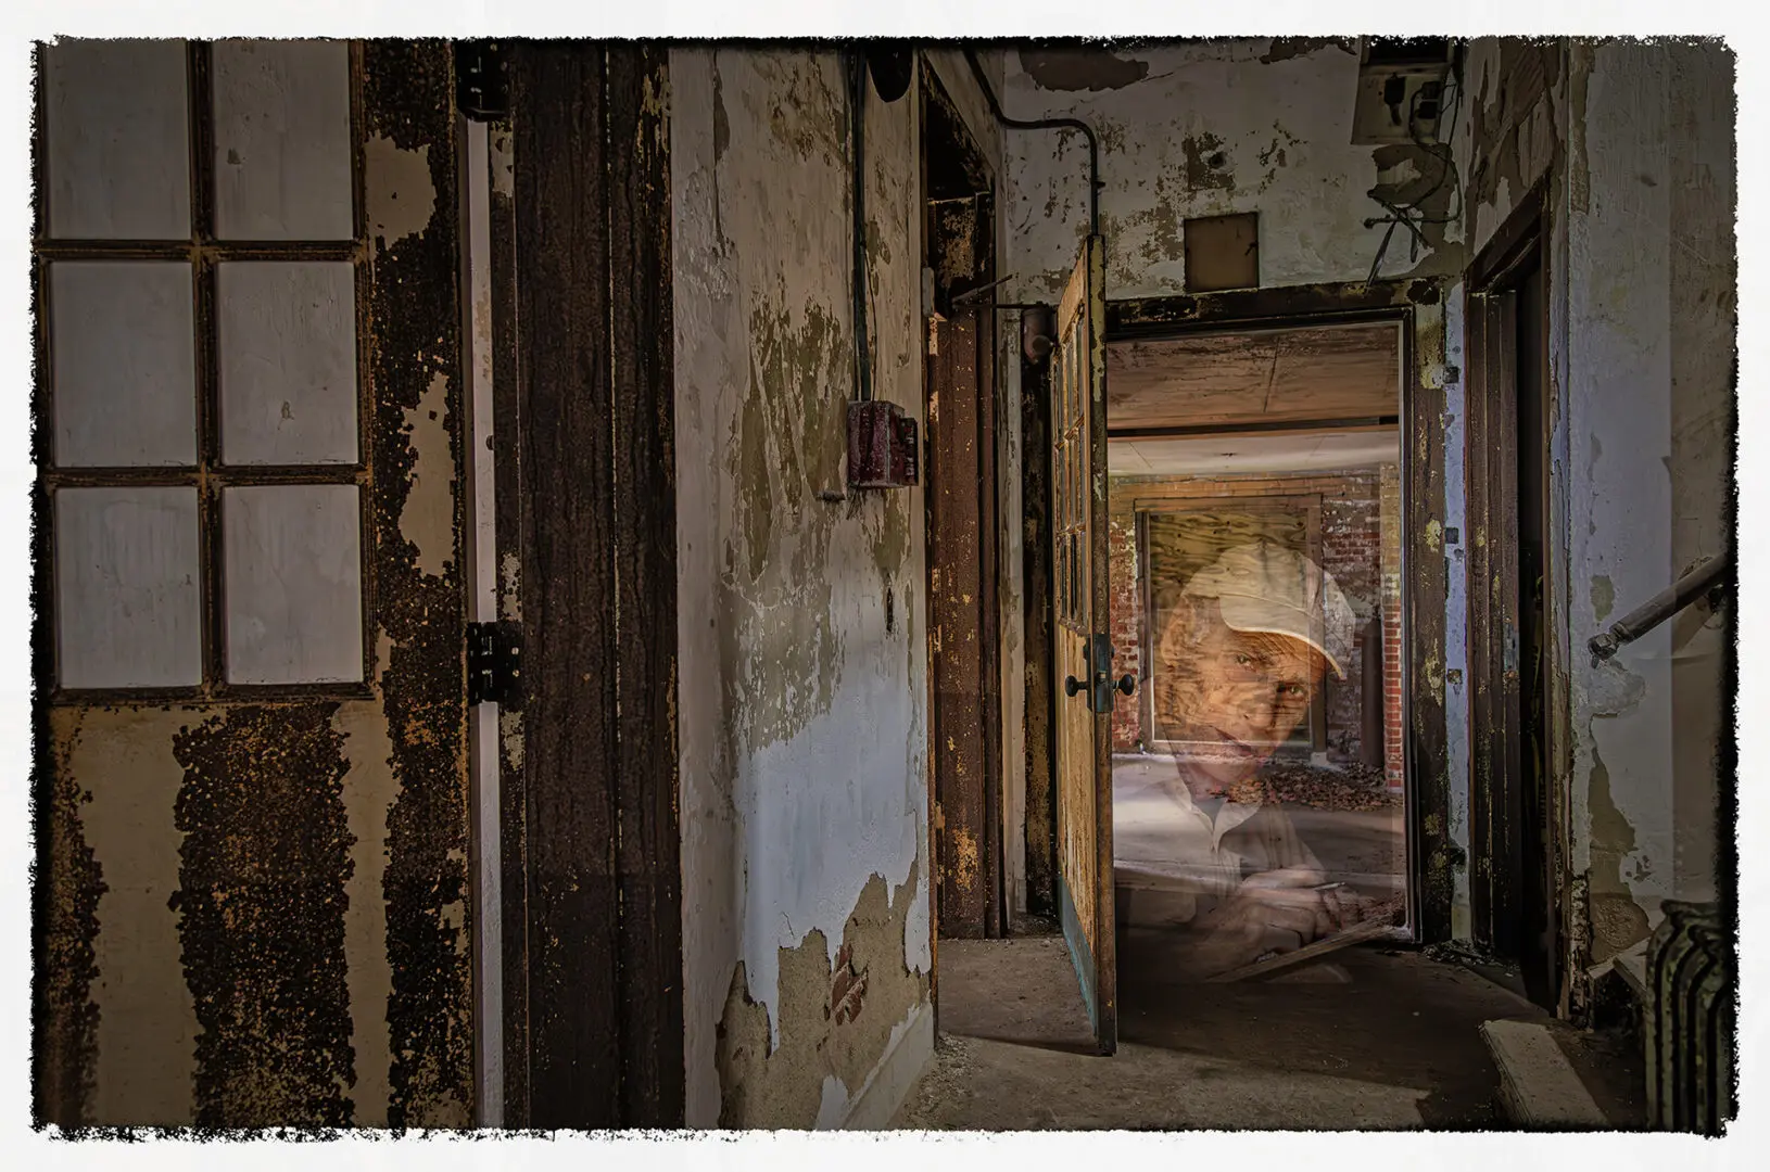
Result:
[[50,235],[188,240],[184,42],[62,41],[42,80]]

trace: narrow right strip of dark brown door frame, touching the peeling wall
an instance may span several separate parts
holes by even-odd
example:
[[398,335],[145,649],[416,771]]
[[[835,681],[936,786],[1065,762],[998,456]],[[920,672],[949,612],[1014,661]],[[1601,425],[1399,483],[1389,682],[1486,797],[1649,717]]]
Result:
[[680,1128],[681,827],[669,49],[607,48],[621,1123]]

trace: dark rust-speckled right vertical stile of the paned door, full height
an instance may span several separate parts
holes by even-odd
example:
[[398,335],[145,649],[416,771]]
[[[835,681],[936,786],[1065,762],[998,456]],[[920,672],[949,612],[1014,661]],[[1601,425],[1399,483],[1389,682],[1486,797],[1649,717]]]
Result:
[[[375,613],[391,642],[379,663],[391,769],[388,810],[388,999],[391,1126],[473,1121],[469,949],[467,684],[462,583],[460,228],[455,210],[453,62],[444,41],[363,44],[363,141],[419,156],[435,203],[418,232],[379,239],[368,265],[370,543]],[[388,232],[393,235],[393,232]],[[441,396],[437,396],[441,387]],[[441,398],[441,401],[437,401]],[[414,415],[441,414],[451,465],[450,548],[419,550],[402,518],[412,506]],[[428,472],[428,470],[427,470]],[[441,573],[427,573],[428,567]],[[375,1008],[363,1006],[361,1013]]]

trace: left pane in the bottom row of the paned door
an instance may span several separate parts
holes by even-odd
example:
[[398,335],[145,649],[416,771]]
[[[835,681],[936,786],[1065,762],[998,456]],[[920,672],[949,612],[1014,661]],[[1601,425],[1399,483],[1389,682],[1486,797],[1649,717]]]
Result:
[[195,488],[55,493],[62,688],[202,682]]

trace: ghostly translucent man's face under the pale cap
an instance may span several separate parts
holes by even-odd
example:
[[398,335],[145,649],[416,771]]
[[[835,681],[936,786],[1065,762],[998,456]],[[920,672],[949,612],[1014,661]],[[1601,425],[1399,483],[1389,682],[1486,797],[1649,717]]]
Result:
[[1230,629],[1209,603],[1175,613],[1161,645],[1168,735],[1211,742],[1207,772],[1227,783],[1257,772],[1308,716],[1322,658],[1283,635]]

